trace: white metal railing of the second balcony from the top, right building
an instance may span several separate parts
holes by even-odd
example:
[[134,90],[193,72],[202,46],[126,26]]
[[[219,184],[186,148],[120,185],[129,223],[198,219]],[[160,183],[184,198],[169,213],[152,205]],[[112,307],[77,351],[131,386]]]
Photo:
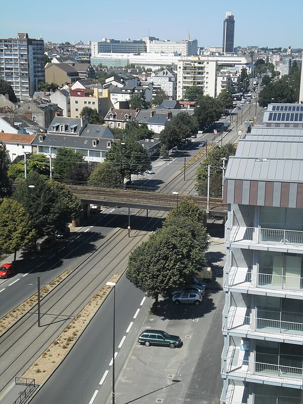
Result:
[[[264,268],[259,268],[260,270]],[[281,269],[282,271],[282,269]],[[225,286],[243,286],[243,287],[258,287],[267,289],[283,289],[283,290],[298,290],[303,291],[303,278],[300,276],[301,269],[297,269],[298,275],[287,273],[287,268],[284,268],[284,275],[264,274],[251,272],[251,268],[232,267],[228,274],[225,275]],[[255,280],[256,279],[256,280]]]

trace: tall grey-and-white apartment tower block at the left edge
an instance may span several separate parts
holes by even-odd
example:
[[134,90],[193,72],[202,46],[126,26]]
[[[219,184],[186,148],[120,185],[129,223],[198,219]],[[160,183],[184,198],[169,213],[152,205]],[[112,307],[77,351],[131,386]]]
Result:
[[44,41],[19,33],[17,38],[0,39],[0,78],[13,87],[17,98],[27,99],[44,76]]

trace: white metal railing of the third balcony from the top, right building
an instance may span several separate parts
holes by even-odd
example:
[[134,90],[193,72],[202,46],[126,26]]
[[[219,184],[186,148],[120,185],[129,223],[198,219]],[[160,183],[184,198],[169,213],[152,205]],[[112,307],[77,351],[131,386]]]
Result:
[[224,331],[239,330],[239,332],[264,332],[278,334],[293,334],[303,337],[303,323],[294,323],[291,321],[271,320],[263,318],[251,318],[249,316],[231,315],[225,318]]

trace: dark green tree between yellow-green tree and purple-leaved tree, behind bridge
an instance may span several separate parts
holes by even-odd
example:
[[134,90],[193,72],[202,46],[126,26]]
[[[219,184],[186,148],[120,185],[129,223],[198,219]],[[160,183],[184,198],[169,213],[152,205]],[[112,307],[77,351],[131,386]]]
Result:
[[53,163],[54,178],[64,180],[67,175],[75,167],[81,167],[82,164],[86,164],[84,156],[80,151],[75,151],[72,148],[61,147],[57,149],[56,159]]

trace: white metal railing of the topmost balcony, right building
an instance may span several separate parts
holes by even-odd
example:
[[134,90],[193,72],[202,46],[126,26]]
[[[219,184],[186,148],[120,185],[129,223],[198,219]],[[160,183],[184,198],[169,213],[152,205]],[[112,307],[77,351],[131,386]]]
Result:
[[251,241],[256,244],[302,245],[303,231],[232,226],[228,238],[227,242]]

